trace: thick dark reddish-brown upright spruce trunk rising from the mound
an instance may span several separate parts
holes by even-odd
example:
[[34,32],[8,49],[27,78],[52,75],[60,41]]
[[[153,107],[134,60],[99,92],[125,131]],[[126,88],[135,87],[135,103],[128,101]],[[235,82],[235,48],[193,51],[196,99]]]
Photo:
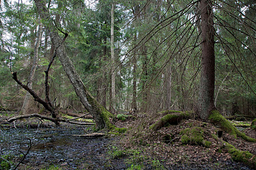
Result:
[[213,1],[200,0],[202,31],[202,68],[198,98],[199,117],[207,120],[214,109],[215,50]]

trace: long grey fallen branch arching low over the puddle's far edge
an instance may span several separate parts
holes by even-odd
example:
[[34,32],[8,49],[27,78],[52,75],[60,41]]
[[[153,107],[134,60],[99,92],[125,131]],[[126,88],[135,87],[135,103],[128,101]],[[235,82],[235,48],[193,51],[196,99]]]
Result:
[[95,123],[86,123],[86,122],[76,122],[76,121],[70,121],[69,119],[61,119],[61,118],[49,118],[47,116],[43,116],[43,115],[39,115],[37,113],[34,113],[34,114],[30,114],[30,115],[20,115],[20,116],[16,116],[16,117],[13,117],[9,120],[7,120],[7,122],[11,123],[15,120],[18,120],[18,119],[26,119],[26,118],[41,118],[41,119],[45,119],[45,120],[50,120],[52,122],[65,122],[65,123],[71,123],[71,124],[81,124],[81,125],[94,125]]

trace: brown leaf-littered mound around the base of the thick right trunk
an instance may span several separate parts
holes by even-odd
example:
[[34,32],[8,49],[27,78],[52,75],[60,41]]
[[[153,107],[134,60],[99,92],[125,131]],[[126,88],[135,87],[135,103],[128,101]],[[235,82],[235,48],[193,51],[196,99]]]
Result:
[[[164,115],[166,113],[150,116],[139,114],[136,120],[118,121],[118,127],[128,129],[120,141],[121,145],[124,148],[139,150],[141,154],[151,155],[165,167],[184,165],[198,169],[203,166],[212,169],[240,169],[246,166],[232,160],[232,154],[229,153],[227,147],[224,147],[225,142],[232,144],[238,150],[249,151],[256,155],[256,143],[222,132],[209,122],[184,119],[177,125],[169,125],[157,131],[150,130],[150,126]],[[203,141],[209,142],[207,147],[204,144],[197,145],[191,142],[192,140],[188,144],[182,144],[182,131],[193,131],[193,129],[200,129]],[[256,137],[256,131],[250,128],[240,130],[247,136]],[[220,131],[222,134],[218,136]]]

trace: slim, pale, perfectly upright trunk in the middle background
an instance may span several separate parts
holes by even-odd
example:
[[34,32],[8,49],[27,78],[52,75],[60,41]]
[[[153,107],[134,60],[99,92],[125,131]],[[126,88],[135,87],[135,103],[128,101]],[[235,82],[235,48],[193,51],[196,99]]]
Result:
[[115,83],[115,53],[114,53],[114,9],[115,4],[112,3],[111,7],[111,37],[110,37],[110,48],[111,48],[111,95],[110,95],[110,106],[109,110],[111,113],[115,113],[116,105],[116,83]]

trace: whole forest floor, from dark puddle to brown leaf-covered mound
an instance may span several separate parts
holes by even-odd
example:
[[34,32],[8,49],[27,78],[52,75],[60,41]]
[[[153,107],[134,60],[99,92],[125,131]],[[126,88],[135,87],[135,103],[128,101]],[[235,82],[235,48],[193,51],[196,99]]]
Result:
[[[39,126],[27,126],[32,122]],[[74,135],[90,134],[92,126],[61,123],[56,127],[50,121],[41,124],[38,119],[18,120],[16,128],[1,126],[1,158],[17,165],[21,152],[30,148],[30,139],[31,149],[19,170],[251,170],[231,159],[223,144],[213,137],[217,128],[210,123],[189,119],[156,132],[139,129],[141,121],[136,119],[114,119],[113,123],[130,130],[119,135],[112,132],[102,137],[85,137]],[[210,147],[181,144],[180,131],[192,127],[203,129],[205,139],[212,142]],[[255,130],[239,130],[256,138]],[[225,133],[221,139],[256,154],[255,143]]]

